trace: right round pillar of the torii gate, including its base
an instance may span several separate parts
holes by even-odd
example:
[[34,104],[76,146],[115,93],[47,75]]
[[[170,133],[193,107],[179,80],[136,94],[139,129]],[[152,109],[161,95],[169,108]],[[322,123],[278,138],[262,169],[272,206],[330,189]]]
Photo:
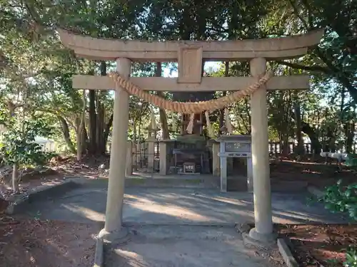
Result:
[[[266,59],[253,58],[251,75],[258,80],[265,72]],[[271,212],[266,86],[262,86],[251,95],[251,140],[255,228],[251,229],[249,237],[266,243],[276,237],[273,234]]]

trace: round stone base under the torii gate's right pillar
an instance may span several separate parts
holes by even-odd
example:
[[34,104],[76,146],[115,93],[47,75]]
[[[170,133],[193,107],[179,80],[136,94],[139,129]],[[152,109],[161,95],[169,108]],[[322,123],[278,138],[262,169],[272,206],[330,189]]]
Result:
[[249,234],[243,233],[243,242],[244,246],[247,247],[257,247],[257,248],[271,248],[272,246],[276,246],[276,239],[278,234],[261,234],[256,231],[255,228],[249,231]]

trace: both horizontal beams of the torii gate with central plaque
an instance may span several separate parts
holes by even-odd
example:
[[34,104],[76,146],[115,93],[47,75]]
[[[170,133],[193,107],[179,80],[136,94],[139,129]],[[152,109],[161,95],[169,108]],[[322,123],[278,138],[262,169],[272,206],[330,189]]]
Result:
[[[256,80],[252,77],[201,77],[202,61],[245,61],[265,58],[266,61],[293,58],[307,53],[323,36],[323,29],[309,33],[265,39],[235,41],[133,41],[93,38],[58,29],[66,48],[94,60],[129,58],[139,62],[178,62],[178,78],[133,77],[139,88],[156,91],[240,90]],[[307,75],[272,77],[267,90],[308,89]],[[74,75],[73,87],[89,90],[111,90],[114,80],[106,76]]]

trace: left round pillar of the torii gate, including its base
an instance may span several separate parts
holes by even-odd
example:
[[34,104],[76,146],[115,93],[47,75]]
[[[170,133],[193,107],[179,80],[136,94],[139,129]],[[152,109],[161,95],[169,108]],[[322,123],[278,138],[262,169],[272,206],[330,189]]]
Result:
[[[131,61],[128,58],[118,58],[116,60],[116,70],[123,77],[129,78]],[[113,116],[108,194],[106,198],[106,222],[104,229],[99,233],[99,236],[107,241],[121,239],[127,234],[127,230],[122,227],[126,140],[129,127],[129,94],[126,90],[115,91]]]

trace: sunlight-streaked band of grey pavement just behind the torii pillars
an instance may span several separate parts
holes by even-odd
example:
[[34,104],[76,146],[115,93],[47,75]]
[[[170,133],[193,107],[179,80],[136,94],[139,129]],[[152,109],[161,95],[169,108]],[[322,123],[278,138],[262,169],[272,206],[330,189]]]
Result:
[[[105,211],[96,211],[77,204],[61,204],[74,214],[91,221],[105,221]],[[273,220],[280,223],[291,221],[322,221],[323,218],[308,214],[308,211],[286,210],[285,201],[273,204]],[[288,208],[287,208],[288,209]],[[158,216],[155,216],[157,214]],[[174,193],[125,194],[124,220],[156,221],[183,220],[194,223],[214,222],[215,224],[237,221],[253,221],[253,201],[234,199],[217,195],[189,194],[182,196]],[[145,219],[146,218],[146,219]]]

